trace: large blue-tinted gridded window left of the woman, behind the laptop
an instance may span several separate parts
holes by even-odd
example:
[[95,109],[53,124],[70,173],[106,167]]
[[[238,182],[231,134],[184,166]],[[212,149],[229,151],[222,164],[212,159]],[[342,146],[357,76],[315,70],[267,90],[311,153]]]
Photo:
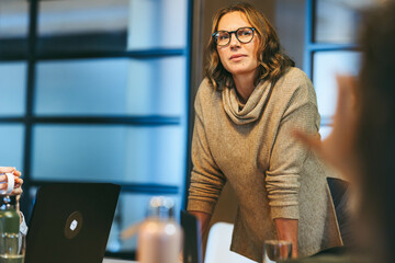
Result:
[[27,218],[41,185],[120,184],[116,256],[151,196],[183,207],[191,2],[1,1],[0,158],[23,172]]

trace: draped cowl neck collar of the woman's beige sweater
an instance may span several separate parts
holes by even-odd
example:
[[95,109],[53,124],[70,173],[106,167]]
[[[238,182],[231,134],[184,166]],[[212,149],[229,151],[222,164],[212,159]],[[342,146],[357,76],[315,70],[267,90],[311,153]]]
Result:
[[244,105],[237,96],[236,88],[224,88],[222,100],[226,114],[237,125],[257,121],[269,99],[270,85],[270,81],[261,81]]

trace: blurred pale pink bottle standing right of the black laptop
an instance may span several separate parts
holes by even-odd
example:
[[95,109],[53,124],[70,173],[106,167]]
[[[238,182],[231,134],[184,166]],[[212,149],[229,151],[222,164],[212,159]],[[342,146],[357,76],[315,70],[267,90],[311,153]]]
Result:
[[137,260],[139,263],[177,263],[181,254],[182,229],[174,220],[171,198],[153,197],[148,215],[138,230]]

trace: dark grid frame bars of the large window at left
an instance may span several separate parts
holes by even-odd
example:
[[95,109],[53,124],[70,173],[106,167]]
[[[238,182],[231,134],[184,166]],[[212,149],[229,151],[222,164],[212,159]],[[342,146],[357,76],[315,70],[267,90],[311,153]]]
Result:
[[[27,9],[27,35],[25,39],[16,41],[16,44],[27,44],[26,50],[21,53],[0,53],[0,61],[24,61],[26,62],[26,83],[25,83],[25,113],[22,116],[0,116],[0,124],[22,124],[24,126],[24,142],[23,142],[23,190],[25,193],[23,198],[21,198],[21,210],[25,214],[26,219],[31,217],[34,196],[31,196],[31,190],[36,187],[47,185],[54,182],[61,181],[42,181],[35,180],[32,176],[32,155],[33,155],[33,129],[34,125],[37,124],[63,124],[63,125],[113,125],[113,126],[181,126],[184,132],[184,156],[180,165],[184,171],[183,181],[178,185],[159,185],[155,183],[142,184],[142,183],[125,183],[117,182],[121,184],[121,193],[135,193],[135,194],[155,194],[155,195],[179,195],[181,198],[181,209],[185,206],[185,186],[188,185],[189,176],[189,149],[190,149],[190,125],[189,125],[189,113],[190,113],[190,87],[191,87],[191,49],[192,49],[192,12],[193,12],[193,1],[187,1],[187,39],[185,46],[183,48],[148,48],[145,50],[124,50],[124,52],[113,52],[113,50],[93,50],[93,52],[57,52],[49,50],[45,53],[38,53],[37,43],[40,36],[37,34],[37,19],[40,13],[40,2],[43,0],[31,0],[29,1]],[[2,46],[7,46],[12,41],[3,39]],[[1,43],[0,43],[1,44]],[[7,44],[7,45],[5,45]],[[184,57],[187,65],[187,76],[185,79],[185,99],[184,99],[184,113],[180,116],[165,116],[165,115],[145,115],[145,116],[134,116],[134,115],[98,115],[98,116],[36,116],[34,115],[34,101],[35,101],[35,85],[36,85],[36,67],[40,61],[43,60],[59,60],[59,59],[82,59],[82,58],[128,58],[128,59],[151,59],[151,58],[166,58],[166,57]],[[70,181],[68,181],[70,182]],[[115,218],[114,218],[115,220]],[[110,253],[111,256],[124,256],[125,252],[121,253]],[[131,255],[131,253],[126,253]],[[132,252],[134,255],[134,252]]]

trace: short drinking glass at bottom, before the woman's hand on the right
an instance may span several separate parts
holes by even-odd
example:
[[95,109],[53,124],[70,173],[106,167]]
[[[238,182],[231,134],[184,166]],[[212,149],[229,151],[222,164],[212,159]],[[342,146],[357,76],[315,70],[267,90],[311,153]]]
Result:
[[285,240],[266,240],[263,244],[263,263],[274,263],[291,259],[292,243]]

